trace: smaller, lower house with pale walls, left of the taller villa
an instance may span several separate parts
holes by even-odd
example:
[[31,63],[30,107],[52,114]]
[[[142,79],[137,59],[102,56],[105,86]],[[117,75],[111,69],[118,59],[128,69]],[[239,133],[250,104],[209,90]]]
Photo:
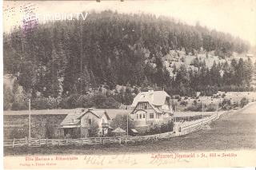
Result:
[[61,123],[64,136],[70,138],[106,136],[110,128],[110,117],[105,110],[82,109],[70,113]]

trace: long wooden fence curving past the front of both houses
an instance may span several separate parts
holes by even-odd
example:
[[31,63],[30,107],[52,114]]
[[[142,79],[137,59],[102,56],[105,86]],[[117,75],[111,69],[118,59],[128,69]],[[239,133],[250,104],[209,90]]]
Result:
[[65,145],[90,145],[90,144],[128,144],[128,143],[138,143],[142,141],[150,141],[150,140],[168,140],[174,136],[184,136],[190,132],[197,131],[210,123],[218,119],[218,115],[212,115],[205,120],[202,120],[198,123],[192,125],[186,125],[181,127],[180,132],[165,132],[155,135],[147,135],[147,136],[118,136],[118,137],[88,137],[81,139],[37,139],[31,138],[27,140],[27,138],[22,139],[13,139],[13,140],[4,140],[4,147],[41,147],[41,146],[65,146]]

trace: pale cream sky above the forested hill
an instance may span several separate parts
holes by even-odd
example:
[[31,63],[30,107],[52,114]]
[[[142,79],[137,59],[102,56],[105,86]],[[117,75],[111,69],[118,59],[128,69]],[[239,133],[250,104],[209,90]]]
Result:
[[[86,11],[90,17],[90,10],[164,15],[190,25],[199,22],[201,26],[233,34],[256,45],[256,0],[5,1],[5,32],[22,25],[24,6],[30,6],[40,15]],[[39,22],[44,22],[44,18],[39,18]]]

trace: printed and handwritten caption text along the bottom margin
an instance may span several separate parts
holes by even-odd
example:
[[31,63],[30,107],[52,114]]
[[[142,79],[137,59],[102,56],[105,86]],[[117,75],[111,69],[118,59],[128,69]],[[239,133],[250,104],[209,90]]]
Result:
[[[143,160],[144,164],[152,164],[154,166],[168,165],[168,164],[189,164],[194,159],[214,159],[214,158],[233,158],[238,155],[233,152],[191,152],[191,153],[151,153],[146,160]],[[20,163],[21,167],[51,167],[62,165],[62,162],[71,162],[76,164],[77,162],[90,167],[90,165],[96,165],[100,167],[108,165],[126,165],[129,167],[142,164],[142,160],[138,159],[138,156],[129,154],[120,155],[86,155],[86,156],[25,156],[24,162]]]

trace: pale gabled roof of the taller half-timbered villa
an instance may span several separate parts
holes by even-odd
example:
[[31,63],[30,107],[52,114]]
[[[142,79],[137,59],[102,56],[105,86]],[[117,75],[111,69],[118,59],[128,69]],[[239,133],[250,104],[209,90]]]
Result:
[[164,105],[166,97],[170,97],[165,91],[153,91],[138,93],[134,97],[131,107],[135,107],[139,101],[148,101],[152,105]]

